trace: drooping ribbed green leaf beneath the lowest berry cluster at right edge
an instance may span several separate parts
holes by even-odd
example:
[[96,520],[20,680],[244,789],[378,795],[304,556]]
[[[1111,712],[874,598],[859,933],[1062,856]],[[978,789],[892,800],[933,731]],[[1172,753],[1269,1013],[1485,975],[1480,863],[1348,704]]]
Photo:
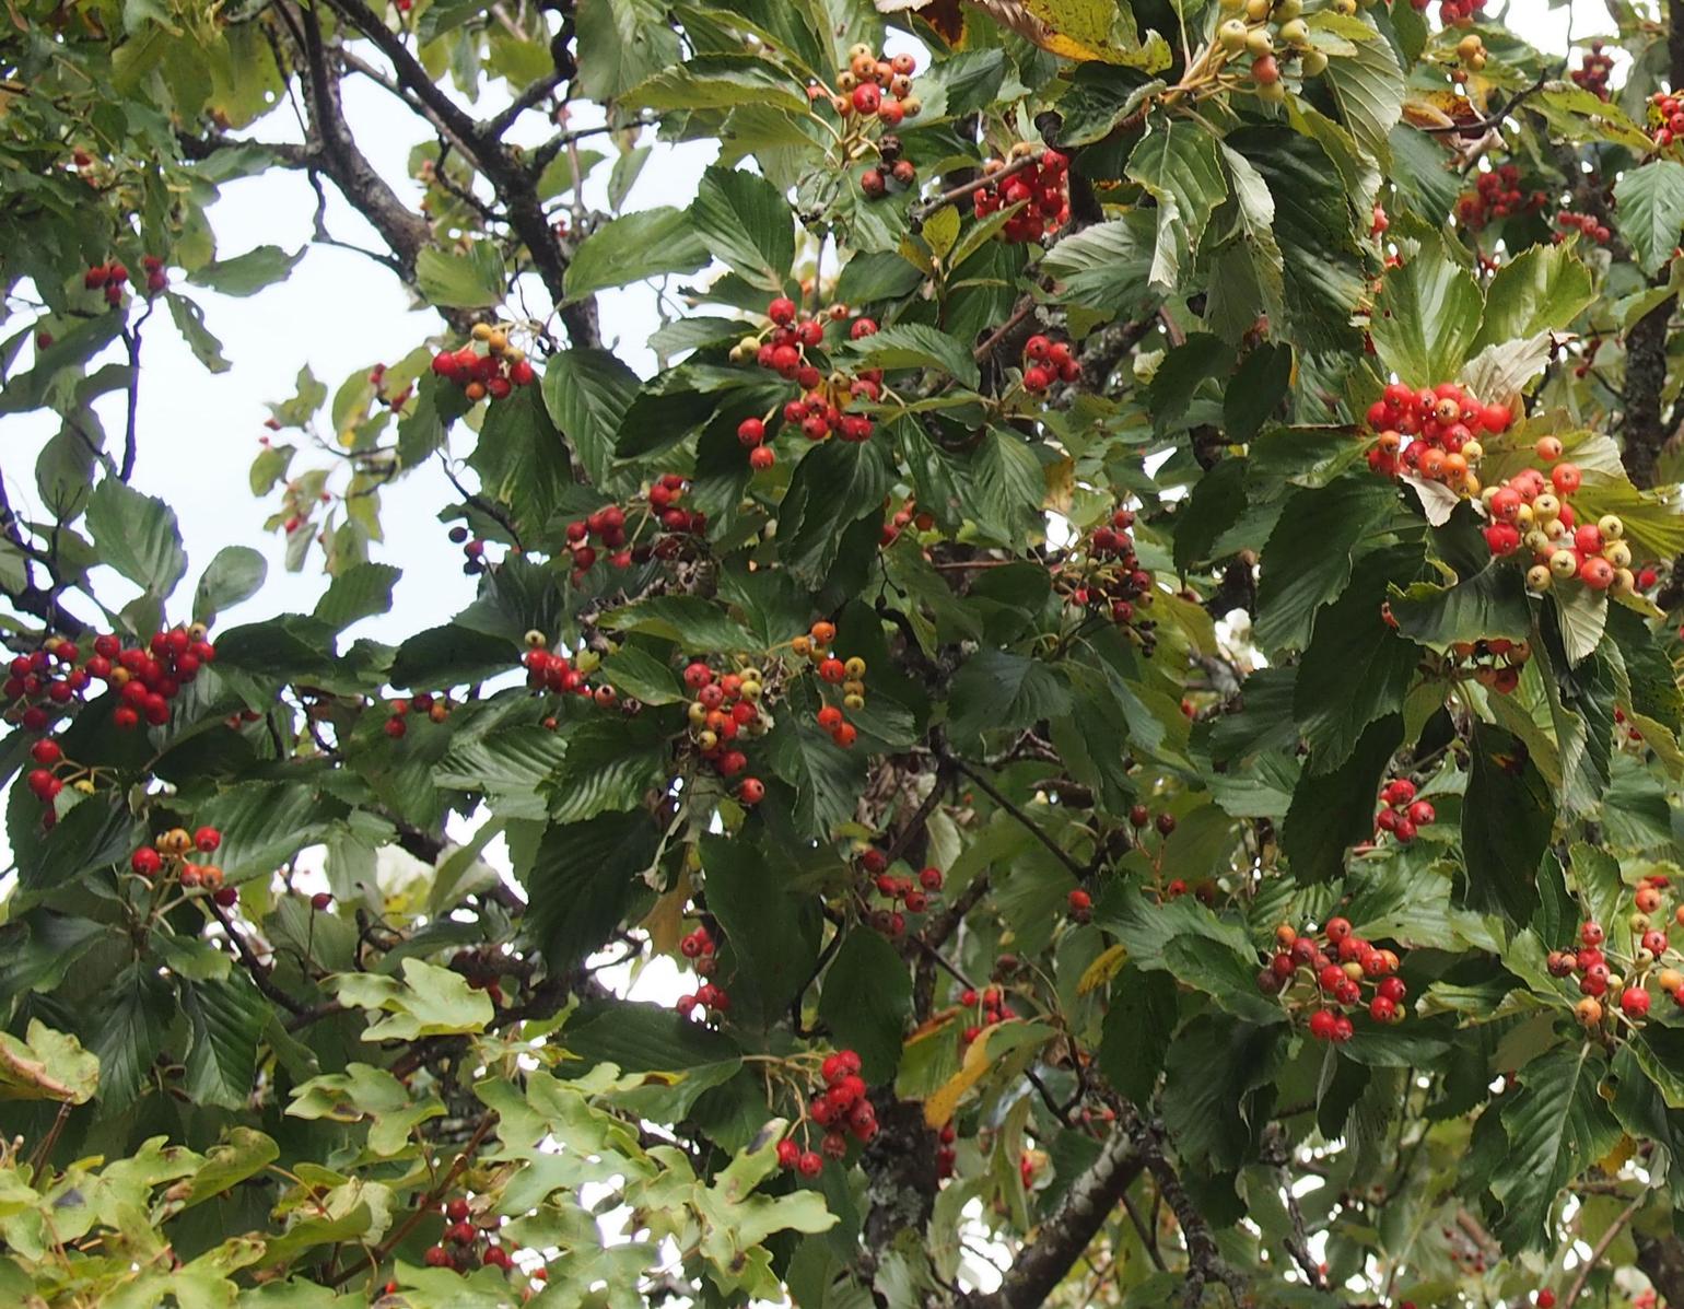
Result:
[[1502,1109],[1509,1149],[1490,1179],[1502,1201],[1495,1232],[1505,1250],[1544,1248],[1561,1188],[1618,1141],[1620,1127],[1600,1093],[1603,1073],[1603,1056],[1590,1041],[1558,1046],[1526,1065],[1519,1095]]

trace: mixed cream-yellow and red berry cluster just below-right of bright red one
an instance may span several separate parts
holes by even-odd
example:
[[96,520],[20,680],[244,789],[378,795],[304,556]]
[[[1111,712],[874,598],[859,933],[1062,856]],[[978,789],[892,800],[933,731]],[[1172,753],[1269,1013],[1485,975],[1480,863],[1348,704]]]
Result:
[[[1539,458],[1561,458],[1561,441],[1541,436]],[[1532,556],[1526,585],[1532,591],[1578,580],[1593,591],[1628,595],[1637,590],[1632,573],[1632,548],[1625,542],[1625,522],[1603,514],[1596,522],[1580,522],[1568,497],[1580,489],[1581,473],[1575,463],[1554,463],[1549,478],[1537,468],[1522,468],[1487,487],[1485,546],[1495,556],[1517,554],[1524,548]]]

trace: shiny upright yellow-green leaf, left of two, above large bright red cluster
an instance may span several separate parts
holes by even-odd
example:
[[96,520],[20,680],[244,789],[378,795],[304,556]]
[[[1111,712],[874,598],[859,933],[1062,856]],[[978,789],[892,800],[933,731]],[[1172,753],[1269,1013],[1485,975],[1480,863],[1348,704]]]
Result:
[[1482,317],[1479,283],[1436,241],[1386,270],[1369,335],[1404,386],[1436,386],[1462,372]]

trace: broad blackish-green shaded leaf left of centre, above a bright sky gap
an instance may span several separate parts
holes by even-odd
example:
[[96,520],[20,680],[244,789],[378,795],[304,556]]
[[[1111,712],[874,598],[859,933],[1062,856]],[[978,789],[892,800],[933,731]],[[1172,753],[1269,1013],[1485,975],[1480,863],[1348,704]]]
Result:
[[552,974],[564,975],[608,938],[653,863],[655,844],[643,810],[598,814],[544,831],[525,874],[527,923]]

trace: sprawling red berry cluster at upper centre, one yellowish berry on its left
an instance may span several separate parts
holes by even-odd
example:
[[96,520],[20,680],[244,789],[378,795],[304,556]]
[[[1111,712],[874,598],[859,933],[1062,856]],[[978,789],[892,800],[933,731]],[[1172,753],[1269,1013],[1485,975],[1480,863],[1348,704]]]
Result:
[[[785,425],[798,428],[810,441],[823,441],[832,435],[844,441],[869,440],[876,423],[864,413],[850,411],[850,406],[874,404],[882,398],[882,369],[825,372],[808,355],[808,350],[823,347],[827,323],[849,320],[847,305],[832,305],[822,315],[808,315],[793,300],[780,295],[766,305],[766,317],[771,325],[761,335],[738,342],[731,349],[731,359],[736,362],[753,359],[802,389],[798,398],[783,404]],[[859,317],[849,323],[850,340],[864,340],[876,334],[877,323],[872,318]],[[749,451],[749,465],[756,470],[778,462],[766,445],[773,413],[744,418],[738,425],[738,441]]]

